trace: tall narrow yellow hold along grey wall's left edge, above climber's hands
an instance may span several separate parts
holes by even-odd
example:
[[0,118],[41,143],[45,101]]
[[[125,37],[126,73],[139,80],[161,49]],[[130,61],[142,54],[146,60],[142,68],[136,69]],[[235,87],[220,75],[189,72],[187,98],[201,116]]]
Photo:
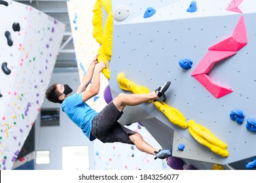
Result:
[[113,34],[113,12],[109,12],[103,30],[103,44],[107,60],[111,59],[112,52],[112,34]]

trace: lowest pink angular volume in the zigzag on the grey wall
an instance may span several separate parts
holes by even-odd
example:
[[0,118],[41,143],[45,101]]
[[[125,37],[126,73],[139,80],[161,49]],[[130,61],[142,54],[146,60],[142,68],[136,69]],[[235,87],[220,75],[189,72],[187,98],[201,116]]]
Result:
[[217,84],[214,84],[210,77],[206,74],[202,75],[196,75],[194,76],[206,90],[208,90],[211,95],[213,95],[215,98],[219,99],[220,97],[223,97],[231,92],[233,92],[231,89],[224,88],[222,86],[218,86]]

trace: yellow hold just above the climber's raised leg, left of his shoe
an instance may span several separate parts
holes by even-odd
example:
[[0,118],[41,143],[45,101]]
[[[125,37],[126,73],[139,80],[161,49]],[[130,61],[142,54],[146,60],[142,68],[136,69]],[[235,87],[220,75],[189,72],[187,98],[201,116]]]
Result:
[[137,86],[134,82],[128,80],[128,78],[124,76],[124,73],[119,73],[117,75],[117,81],[119,82],[119,86],[122,90],[137,94],[150,93],[148,88],[145,88],[144,86]]

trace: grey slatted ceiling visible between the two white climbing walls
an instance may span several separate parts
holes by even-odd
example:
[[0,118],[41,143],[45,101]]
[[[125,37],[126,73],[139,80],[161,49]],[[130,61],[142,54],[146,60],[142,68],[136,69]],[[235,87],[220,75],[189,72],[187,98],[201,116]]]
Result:
[[67,10],[67,0],[19,0],[17,2],[37,8],[41,12],[45,12],[45,14],[48,14],[52,18],[65,24],[64,38],[62,40],[62,45],[60,46],[60,52],[56,60],[54,71],[63,71],[64,69],[65,71],[73,71],[73,69],[77,70],[75,48],[73,46],[73,38]]

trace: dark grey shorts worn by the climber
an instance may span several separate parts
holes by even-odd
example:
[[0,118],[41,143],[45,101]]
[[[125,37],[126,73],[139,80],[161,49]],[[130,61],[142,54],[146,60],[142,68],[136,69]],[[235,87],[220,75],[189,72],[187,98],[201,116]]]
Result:
[[117,110],[117,107],[109,103],[99,112],[92,120],[92,135],[103,143],[107,142],[122,142],[126,144],[134,144],[129,136],[137,133],[123,125],[117,120],[122,116],[123,112]]

